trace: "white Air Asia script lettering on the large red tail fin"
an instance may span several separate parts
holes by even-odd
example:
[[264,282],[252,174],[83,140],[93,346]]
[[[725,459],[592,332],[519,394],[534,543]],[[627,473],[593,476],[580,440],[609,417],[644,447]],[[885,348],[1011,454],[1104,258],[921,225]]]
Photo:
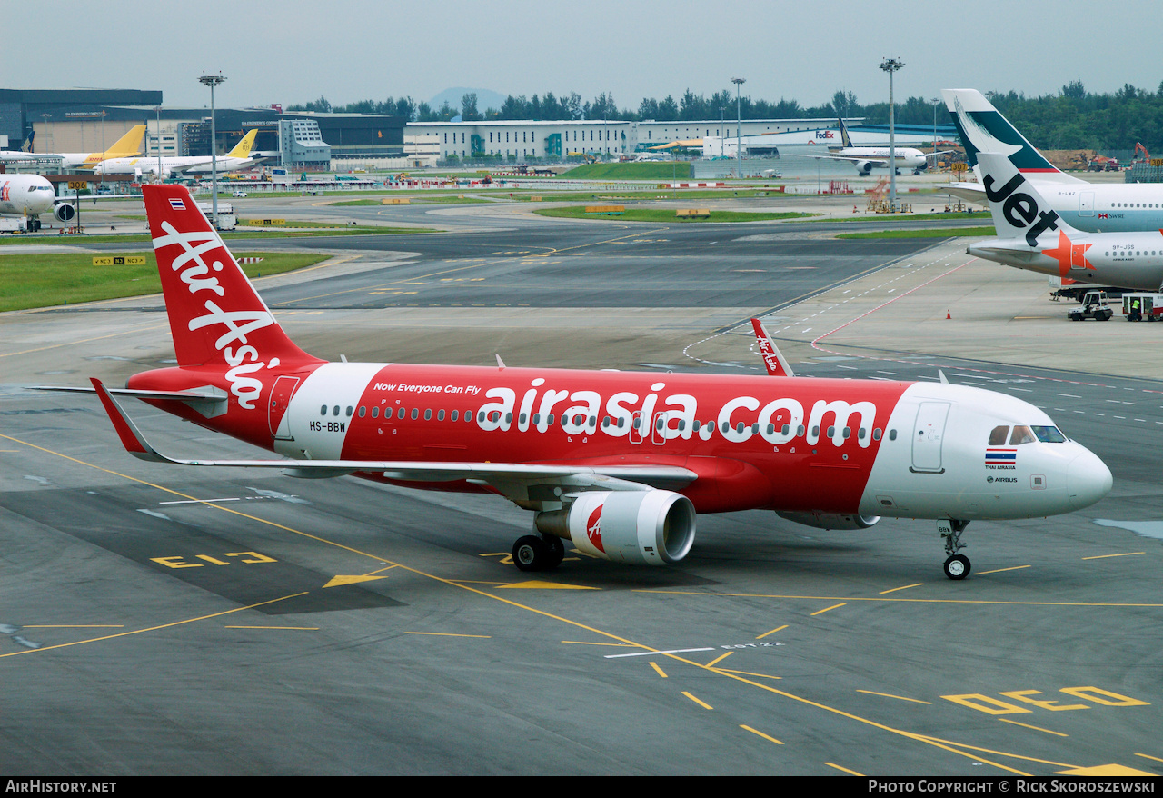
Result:
[[[193,233],[179,233],[167,221],[162,222],[164,235],[154,238],[154,249],[158,252],[166,247],[180,247],[181,252],[173,258],[170,269],[178,275],[190,293],[208,291],[215,297],[224,297],[226,290],[219,283],[215,272],[222,272],[221,261],[213,261],[207,264],[202,256],[212,250],[221,249],[222,242],[213,230],[195,230]],[[227,254],[229,258],[229,254]],[[237,269],[231,261],[230,269]],[[263,383],[255,377],[250,377],[261,369],[273,369],[279,364],[278,357],[272,357],[270,363],[248,342],[248,336],[256,330],[270,327],[274,323],[274,318],[262,307],[244,311],[226,311],[213,298],[207,298],[202,304],[204,315],[190,319],[187,325],[191,333],[200,329],[213,329],[221,327],[222,332],[214,340],[214,349],[221,352],[230,369],[226,372],[226,378],[230,383],[230,393],[238,400],[238,406],[245,409],[255,409],[255,400],[263,391]]]

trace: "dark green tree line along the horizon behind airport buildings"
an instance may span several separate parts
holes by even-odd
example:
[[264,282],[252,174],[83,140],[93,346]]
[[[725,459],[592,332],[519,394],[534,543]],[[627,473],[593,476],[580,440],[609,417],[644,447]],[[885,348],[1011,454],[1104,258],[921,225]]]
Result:
[[[1040,149],[1130,149],[1136,142],[1149,150],[1163,150],[1163,83],[1150,91],[1130,84],[1114,93],[1087,92],[1083,81],[1071,80],[1058,92],[1041,97],[1025,93],[985,92],[993,105],[1022,134]],[[742,119],[829,119],[863,116],[870,124],[889,123],[889,104],[862,104],[856,95],[837,90],[830,102],[801,106],[797,100],[780,98],[778,102],[740,95],[737,113]],[[729,121],[736,115],[736,95],[730,90],[711,97],[695,94],[690,88],[677,100],[666,95],[658,100],[643,98],[637,108],[619,108],[614,97],[602,92],[592,100],[583,100],[577,92],[555,95],[545,92],[527,98],[525,94],[505,98],[500,108],[479,109],[476,93],[461,98],[459,107],[447,100],[440,108],[418,102],[411,97],[386,100],[361,100],[344,106],[331,106],[327,98],[288,106],[288,111],[387,114],[402,116],[412,122],[444,122],[456,116],[471,120],[622,120],[658,122],[714,120]],[[934,104],[922,97],[911,97],[896,106],[896,120],[901,124],[948,124],[949,115],[943,102]]]

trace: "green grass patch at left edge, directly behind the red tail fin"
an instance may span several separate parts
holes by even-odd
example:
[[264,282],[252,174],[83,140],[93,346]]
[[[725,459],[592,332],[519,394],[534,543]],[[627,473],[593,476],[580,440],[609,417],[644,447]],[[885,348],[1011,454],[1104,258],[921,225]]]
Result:
[[[113,254],[109,254],[113,255]],[[0,255],[0,311],[91,302],[158,293],[162,283],[154,252],[117,252],[145,256],[140,266],[94,266],[94,257],[109,255]],[[235,257],[262,257],[242,269],[248,277],[304,269],[329,255],[299,252],[235,252]]]

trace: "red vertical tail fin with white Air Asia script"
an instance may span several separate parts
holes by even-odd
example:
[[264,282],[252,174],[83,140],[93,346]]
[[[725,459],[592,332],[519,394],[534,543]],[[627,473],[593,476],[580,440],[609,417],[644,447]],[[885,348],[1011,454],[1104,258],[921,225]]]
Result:
[[274,321],[185,186],[142,186],[178,365],[320,363]]

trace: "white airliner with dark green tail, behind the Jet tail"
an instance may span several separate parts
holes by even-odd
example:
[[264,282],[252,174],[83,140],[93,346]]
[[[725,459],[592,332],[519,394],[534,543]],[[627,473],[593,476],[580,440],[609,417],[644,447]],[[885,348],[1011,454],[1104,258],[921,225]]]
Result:
[[[997,152],[1006,156],[1029,183],[1037,185],[1043,208],[1053,209],[1058,219],[1076,229],[1129,233],[1163,228],[1163,185],[1086,183],[1047,161],[976,88],[942,88],[941,94],[965,145],[969,165],[979,180],[978,154]],[[955,183],[947,191],[978,205],[989,202],[980,183]]]

